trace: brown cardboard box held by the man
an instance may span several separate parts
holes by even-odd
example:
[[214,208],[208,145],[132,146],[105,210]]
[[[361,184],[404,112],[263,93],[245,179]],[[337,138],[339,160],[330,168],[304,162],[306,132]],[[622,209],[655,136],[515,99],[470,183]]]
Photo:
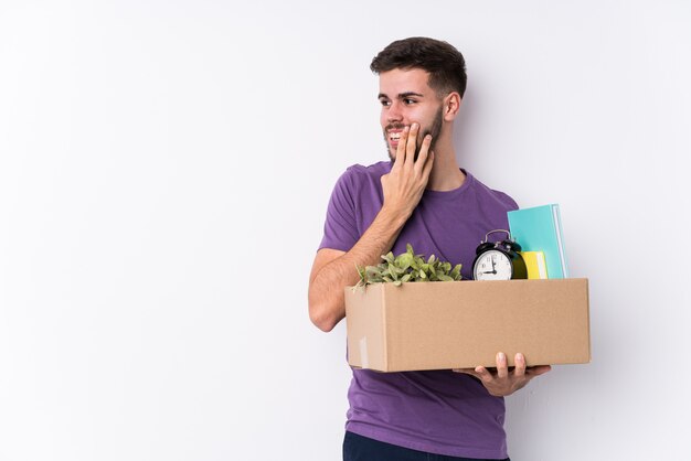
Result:
[[380,372],[591,361],[587,279],[346,288],[348,362]]

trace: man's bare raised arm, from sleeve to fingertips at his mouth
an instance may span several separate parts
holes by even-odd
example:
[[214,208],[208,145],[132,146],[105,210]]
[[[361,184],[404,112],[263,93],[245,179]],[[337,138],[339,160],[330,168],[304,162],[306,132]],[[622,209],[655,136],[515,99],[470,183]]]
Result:
[[415,160],[418,129],[413,124],[401,136],[391,173],[382,176],[384,203],[362,237],[346,253],[329,248],[317,251],[309,277],[309,318],[322,331],[331,331],[346,317],[343,288],[358,282],[355,266],[380,261],[425,192],[434,152],[427,154],[432,137],[426,136]]

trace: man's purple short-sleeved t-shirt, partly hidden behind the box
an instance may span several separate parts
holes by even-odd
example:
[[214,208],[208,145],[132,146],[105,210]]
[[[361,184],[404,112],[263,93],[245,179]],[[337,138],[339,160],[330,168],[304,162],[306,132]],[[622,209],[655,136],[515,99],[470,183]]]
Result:
[[[331,195],[319,248],[348,251],[360,239],[383,203],[381,176],[391,162],[350,167]],[[465,172],[465,171],[464,171]],[[475,249],[485,234],[507,229],[507,212],[518,205],[468,172],[453,191],[425,191],[392,251],[436,255],[463,264],[471,278]],[[503,236],[499,234],[499,237]],[[354,270],[354,269],[353,269]],[[459,331],[459,334],[463,334]],[[504,403],[474,377],[449,369],[379,373],[353,369],[346,429],[414,450],[465,458],[504,459]]]

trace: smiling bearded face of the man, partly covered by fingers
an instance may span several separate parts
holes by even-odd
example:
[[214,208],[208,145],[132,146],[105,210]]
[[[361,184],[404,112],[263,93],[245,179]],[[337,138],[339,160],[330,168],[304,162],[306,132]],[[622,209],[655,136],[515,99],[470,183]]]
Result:
[[392,161],[396,158],[403,128],[410,127],[414,121],[421,128],[417,150],[427,133],[432,135],[430,149],[434,149],[442,131],[443,107],[435,90],[427,85],[428,78],[429,74],[421,68],[394,68],[379,76],[379,100],[382,104],[380,122]]

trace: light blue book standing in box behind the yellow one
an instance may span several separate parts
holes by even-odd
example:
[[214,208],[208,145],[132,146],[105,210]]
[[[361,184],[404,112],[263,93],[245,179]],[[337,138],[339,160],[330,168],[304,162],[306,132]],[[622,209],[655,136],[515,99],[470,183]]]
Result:
[[548,265],[548,277],[568,277],[564,233],[557,204],[509,212],[509,230],[523,251],[542,251]]

